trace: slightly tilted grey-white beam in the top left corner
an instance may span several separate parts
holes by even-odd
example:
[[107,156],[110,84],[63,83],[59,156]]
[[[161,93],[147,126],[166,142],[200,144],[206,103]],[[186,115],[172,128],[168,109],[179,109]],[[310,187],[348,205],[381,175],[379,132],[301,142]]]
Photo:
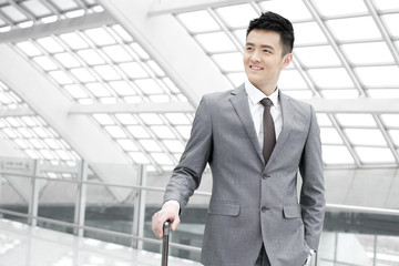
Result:
[[29,39],[38,39],[52,34],[61,34],[79,30],[92,29],[104,24],[115,23],[108,12],[88,13],[72,19],[62,19],[51,23],[35,24],[29,28],[14,29],[0,33],[0,43],[19,42]]

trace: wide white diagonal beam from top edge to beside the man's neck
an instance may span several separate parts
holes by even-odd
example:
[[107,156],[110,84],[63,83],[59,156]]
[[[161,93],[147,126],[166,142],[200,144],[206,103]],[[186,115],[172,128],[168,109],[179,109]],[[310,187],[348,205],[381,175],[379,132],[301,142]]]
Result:
[[145,48],[193,106],[205,93],[229,89],[216,65],[172,14],[149,16],[153,1],[99,2]]

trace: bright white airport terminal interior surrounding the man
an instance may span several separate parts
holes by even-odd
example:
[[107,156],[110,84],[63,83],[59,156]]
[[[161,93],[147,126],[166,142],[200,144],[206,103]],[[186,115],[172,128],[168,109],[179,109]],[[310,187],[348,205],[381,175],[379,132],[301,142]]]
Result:
[[[295,30],[278,88],[320,126],[313,263],[399,265],[398,0],[0,0],[0,266],[161,265],[152,215],[265,11]],[[170,265],[201,265],[211,192],[206,167]]]

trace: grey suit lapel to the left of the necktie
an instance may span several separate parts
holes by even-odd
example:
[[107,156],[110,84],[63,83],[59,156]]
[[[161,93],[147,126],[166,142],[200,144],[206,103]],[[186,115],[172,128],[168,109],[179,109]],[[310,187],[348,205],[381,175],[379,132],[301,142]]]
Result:
[[234,106],[234,110],[236,111],[241,122],[244,125],[244,129],[246,133],[249,136],[250,142],[253,143],[256,153],[260,157],[262,161],[264,161],[262,155],[262,149],[259,141],[257,139],[256,132],[255,132],[255,125],[254,120],[250,115],[249,105],[248,105],[248,96],[245,92],[245,85],[242,84],[236,90],[232,91],[232,98],[231,102]]

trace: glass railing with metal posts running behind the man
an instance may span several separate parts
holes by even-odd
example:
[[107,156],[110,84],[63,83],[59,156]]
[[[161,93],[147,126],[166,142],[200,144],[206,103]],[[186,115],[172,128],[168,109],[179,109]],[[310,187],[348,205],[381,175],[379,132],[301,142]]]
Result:
[[[139,172],[145,174],[143,168]],[[161,249],[151,218],[161,207],[163,187],[8,172],[0,172],[0,177],[3,218],[155,253]],[[195,193],[182,213],[182,223],[171,235],[172,256],[200,260],[209,196]],[[399,211],[328,204],[314,264],[399,265]]]

